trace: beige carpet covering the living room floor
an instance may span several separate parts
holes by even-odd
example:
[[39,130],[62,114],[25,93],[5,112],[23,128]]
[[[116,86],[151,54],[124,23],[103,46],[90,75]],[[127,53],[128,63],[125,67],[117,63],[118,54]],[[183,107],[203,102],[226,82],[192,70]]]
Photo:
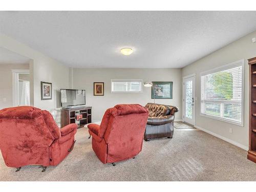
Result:
[[42,173],[38,166],[19,172],[0,157],[0,181],[256,181],[256,164],[246,151],[202,131],[176,130],[173,139],[152,139],[131,160],[102,164],[85,128],[71,154]]

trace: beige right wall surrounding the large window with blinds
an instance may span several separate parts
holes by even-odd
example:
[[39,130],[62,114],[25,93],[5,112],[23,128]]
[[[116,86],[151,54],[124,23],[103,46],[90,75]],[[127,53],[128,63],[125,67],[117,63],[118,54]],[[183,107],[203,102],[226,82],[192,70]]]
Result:
[[[256,32],[242,37],[182,69],[182,77],[196,73],[196,125],[243,148],[248,148],[249,68],[247,59],[256,56],[256,43],[252,43],[252,37],[256,37]],[[200,73],[240,59],[245,59],[244,126],[200,116]],[[233,133],[229,133],[229,128],[232,128]]]

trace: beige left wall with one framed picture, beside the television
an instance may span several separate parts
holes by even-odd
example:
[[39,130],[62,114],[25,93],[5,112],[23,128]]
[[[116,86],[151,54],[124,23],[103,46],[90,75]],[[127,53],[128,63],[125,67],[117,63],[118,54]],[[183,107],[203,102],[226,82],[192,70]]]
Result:
[[[30,89],[31,105],[53,111],[59,105],[59,90],[69,88],[69,68],[62,63],[18,42],[11,37],[0,34],[0,47],[31,59]],[[41,100],[40,81],[52,82],[53,96],[51,100]]]

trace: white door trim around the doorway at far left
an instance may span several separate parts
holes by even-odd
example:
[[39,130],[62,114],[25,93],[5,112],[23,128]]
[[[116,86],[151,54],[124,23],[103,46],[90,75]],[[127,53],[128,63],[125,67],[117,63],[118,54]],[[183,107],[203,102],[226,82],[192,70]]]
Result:
[[12,106],[18,104],[18,74],[29,74],[29,69],[12,69]]

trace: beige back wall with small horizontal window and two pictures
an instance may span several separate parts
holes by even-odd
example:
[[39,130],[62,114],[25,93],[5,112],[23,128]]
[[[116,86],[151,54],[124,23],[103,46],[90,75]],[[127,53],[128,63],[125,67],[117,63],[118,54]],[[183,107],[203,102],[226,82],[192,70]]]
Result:
[[[151,88],[143,93],[111,93],[111,79],[142,79],[143,81],[173,81],[173,99],[156,99],[156,103],[181,106],[181,69],[73,69],[74,89],[86,90],[86,104],[93,107],[93,121],[101,120],[106,109],[120,103],[154,102]],[[93,95],[93,82],[104,82],[104,96]],[[181,119],[180,113],[176,119]]]

